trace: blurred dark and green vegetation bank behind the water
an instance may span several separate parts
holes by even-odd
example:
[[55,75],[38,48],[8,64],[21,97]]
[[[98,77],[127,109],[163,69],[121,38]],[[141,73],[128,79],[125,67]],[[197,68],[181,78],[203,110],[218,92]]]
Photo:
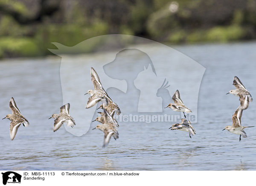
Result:
[[105,34],[173,44],[253,40],[256,0],[0,0],[0,58],[49,55],[52,42]]

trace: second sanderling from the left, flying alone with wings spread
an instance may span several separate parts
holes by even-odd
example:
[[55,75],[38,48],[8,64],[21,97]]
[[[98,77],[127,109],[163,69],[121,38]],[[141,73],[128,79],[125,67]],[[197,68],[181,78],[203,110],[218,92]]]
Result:
[[54,113],[49,118],[54,118],[53,132],[57,131],[64,122],[67,122],[67,126],[72,127],[76,125],[73,117],[69,115],[70,104],[67,103],[61,107],[60,113]]

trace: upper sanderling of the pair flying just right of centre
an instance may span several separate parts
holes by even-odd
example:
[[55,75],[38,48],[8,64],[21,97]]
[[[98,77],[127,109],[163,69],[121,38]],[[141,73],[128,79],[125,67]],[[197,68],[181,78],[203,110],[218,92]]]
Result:
[[[186,112],[186,113],[192,112],[189,108],[187,108],[183,104],[182,100],[180,99],[179,90],[176,90],[176,92],[172,96],[172,100],[174,101],[174,103],[170,103],[167,107],[171,108],[174,111],[183,112],[184,116],[185,116],[184,112]],[[167,107],[165,107],[165,108],[167,108]],[[186,116],[185,116],[185,118],[186,118]]]

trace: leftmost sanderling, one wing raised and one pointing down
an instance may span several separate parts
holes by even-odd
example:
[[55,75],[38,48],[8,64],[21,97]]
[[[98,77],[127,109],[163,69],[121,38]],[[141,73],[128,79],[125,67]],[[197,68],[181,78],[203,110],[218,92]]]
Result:
[[13,140],[18,131],[18,128],[20,127],[20,124],[23,124],[24,127],[27,127],[29,126],[29,121],[21,115],[20,110],[17,108],[13,98],[11,98],[9,102],[9,107],[12,110],[12,114],[7,114],[3,119],[7,118],[12,121],[10,124],[10,136]]

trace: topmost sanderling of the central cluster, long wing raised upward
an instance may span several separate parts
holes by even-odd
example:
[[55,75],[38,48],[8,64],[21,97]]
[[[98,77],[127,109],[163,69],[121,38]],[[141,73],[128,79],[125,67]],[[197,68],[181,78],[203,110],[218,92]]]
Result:
[[115,110],[116,113],[119,115],[121,113],[119,107],[112,101],[112,99],[108,96],[108,94],[102,87],[102,84],[99,80],[99,76],[93,69],[93,67],[91,67],[90,75],[93,81],[94,90],[88,90],[88,92],[84,94],[91,95],[85,108],[91,108],[99,101],[102,101],[103,108],[109,107],[108,109],[112,109],[112,111]]

